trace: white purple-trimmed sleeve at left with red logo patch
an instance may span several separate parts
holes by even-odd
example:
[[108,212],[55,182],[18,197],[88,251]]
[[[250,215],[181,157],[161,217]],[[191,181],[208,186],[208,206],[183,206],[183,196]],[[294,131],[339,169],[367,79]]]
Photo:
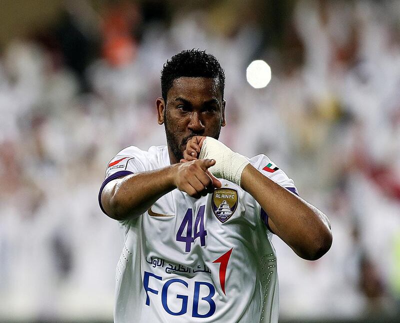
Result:
[[98,192],[98,203],[101,210],[105,213],[101,205],[101,193],[107,183],[111,180],[130,175],[137,172],[146,171],[148,163],[147,151],[140,150],[135,146],[129,146],[119,151],[108,163],[105,169],[104,181]]

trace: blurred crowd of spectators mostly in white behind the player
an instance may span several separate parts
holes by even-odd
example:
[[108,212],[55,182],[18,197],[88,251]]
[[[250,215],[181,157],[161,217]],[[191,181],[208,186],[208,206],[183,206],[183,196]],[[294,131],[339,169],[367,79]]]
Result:
[[398,313],[400,2],[179,2],[68,2],[2,48],[0,319],[111,317],[122,236],[98,189],[120,149],[165,144],[160,70],[193,47],[225,69],[220,140],[268,155],[331,221],[317,261],[273,237],[281,316]]

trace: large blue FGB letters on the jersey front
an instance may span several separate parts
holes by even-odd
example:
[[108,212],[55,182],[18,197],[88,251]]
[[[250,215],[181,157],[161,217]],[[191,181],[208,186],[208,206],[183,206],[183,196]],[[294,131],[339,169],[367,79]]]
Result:
[[[183,315],[187,312],[189,301],[191,302],[192,317],[210,317],[215,313],[215,302],[212,297],[215,294],[215,287],[207,281],[194,281],[194,288],[189,286],[193,281],[185,281],[180,278],[166,280],[161,288],[155,289],[160,285],[157,281],[163,281],[161,276],[152,272],[144,271],[143,287],[146,292],[146,305],[150,306],[150,295],[161,295],[161,304],[164,310],[171,315]],[[150,287],[151,286],[151,287]],[[182,292],[184,290],[186,292]],[[193,290],[193,294],[188,291]],[[152,298],[151,301],[159,301],[159,298]],[[202,310],[200,310],[200,307]],[[204,310],[204,307],[206,309]]]

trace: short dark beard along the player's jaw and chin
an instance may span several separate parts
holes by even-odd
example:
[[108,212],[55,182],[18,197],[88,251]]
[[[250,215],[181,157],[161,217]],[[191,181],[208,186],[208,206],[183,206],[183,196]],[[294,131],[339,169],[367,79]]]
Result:
[[221,132],[221,124],[218,123],[219,126],[214,129],[214,133],[190,133],[189,135],[179,138],[177,134],[177,129],[174,126],[173,122],[169,122],[166,114],[164,113],[164,127],[165,127],[165,136],[166,142],[168,144],[169,149],[171,150],[173,156],[175,157],[176,162],[179,162],[180,159],[183,158],[183,151],[186,149],[187,140],[192,138],[195,135],[203,135],[213,137],[214,139],[219,138],[219,133]]

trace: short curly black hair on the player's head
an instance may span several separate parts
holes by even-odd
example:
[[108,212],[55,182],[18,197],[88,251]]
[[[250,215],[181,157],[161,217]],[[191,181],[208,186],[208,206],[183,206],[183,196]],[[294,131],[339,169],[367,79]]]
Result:
[[215,56],[205,50],[186,49],[167,59],[161,70],[161,95],[165,102],[173,80],[182,76],[218,78],[223,98],[225,72]]

